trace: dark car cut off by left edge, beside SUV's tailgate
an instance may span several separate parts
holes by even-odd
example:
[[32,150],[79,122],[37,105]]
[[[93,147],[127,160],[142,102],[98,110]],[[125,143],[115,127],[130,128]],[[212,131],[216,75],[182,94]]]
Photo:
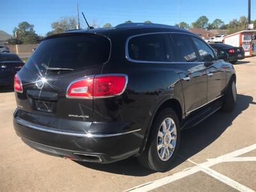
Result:
[[24,63],[14,53],[0,53],[0,86],[12,85],[14,76]]

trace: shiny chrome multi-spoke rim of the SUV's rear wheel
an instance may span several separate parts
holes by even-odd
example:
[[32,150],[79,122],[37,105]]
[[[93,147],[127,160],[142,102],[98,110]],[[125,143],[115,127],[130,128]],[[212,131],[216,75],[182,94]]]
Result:
[[172,118],[163,120],[157,134],[157,154],[162,161],[168,161],[175,150],[177,129]]

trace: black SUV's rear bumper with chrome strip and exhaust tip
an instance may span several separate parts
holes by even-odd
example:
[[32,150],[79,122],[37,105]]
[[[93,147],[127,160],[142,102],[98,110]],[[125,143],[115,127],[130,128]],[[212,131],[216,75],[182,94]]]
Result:
[[13,115],[13,127],[17,135],[30,147],[52,156],[111,163],[138,154],[143,141],[140,130],[132,130],[132,127],[127,131],[106,134],[81,133],[34,124],[22,120],[16,113]]

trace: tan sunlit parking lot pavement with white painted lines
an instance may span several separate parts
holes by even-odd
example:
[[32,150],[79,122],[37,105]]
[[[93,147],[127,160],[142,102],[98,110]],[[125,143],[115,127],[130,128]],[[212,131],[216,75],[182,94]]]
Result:
[[0,191],[256,191],[256,57],[234,65],[237,106],[182,132],[172,170],[150,172],[136,158],[76,163],[22,143],[12,127],[15,97],[0,89]]

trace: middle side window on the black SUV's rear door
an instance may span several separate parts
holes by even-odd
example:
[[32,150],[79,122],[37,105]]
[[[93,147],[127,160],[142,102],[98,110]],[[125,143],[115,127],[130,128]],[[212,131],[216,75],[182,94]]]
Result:
[[180,62],[195,62],[198,61],[196,57],[196,52],[191,42],[191,39],[188,36],[184,35],[173,35],[173,42],[177,47],[179,52]]

